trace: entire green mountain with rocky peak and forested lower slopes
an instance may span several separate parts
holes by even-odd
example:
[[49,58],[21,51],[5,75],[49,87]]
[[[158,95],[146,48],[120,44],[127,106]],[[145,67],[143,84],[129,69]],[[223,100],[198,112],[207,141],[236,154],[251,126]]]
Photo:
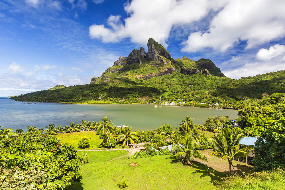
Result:
[[152,97],[185,101],[240,100],[262,98],[263,94],[285,92],[285,72],[271,72],[240,80],[230,79],[209,59],[194,61],[183,56],[172,59],[170,53],[152,38],[148,52],[134,49],[120,57],[112,67],[93,77],[90,84],[43,90],[13,97],[38,102],[118,102]]

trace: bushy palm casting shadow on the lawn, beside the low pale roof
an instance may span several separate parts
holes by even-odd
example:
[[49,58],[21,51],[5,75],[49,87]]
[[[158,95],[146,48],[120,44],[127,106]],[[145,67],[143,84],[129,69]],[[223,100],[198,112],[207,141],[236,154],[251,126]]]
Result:
[[185,133],[183,136],[183,146],[184,147],[181,147],[179,144],[172,146],[172,152],[177,152],[177,160],[191,164],[190,161],[194,160],[193,158],[200,158],[207,162],[207,157],[198,150],[200,145],[198,142],[194,141],[193,137],[191,137],[189,133]]

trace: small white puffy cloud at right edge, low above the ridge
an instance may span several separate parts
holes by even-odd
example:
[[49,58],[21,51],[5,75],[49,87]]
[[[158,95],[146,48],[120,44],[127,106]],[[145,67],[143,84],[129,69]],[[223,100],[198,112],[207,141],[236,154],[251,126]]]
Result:
[[270,46],[269,49],[264,49],[264,48],[260,49],[257,52],[256,57],[259,60],[268,61],[280,55],[284,56],[284,53],[285,53],[285,46],[276,44],[274,46]]

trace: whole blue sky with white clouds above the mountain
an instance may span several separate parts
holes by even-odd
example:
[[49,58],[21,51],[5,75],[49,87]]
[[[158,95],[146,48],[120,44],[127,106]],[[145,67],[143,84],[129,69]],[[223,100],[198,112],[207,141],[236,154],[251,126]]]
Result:
[[229,78],[285,70],[284,0],[0,0],[0,96],[89,84],[153,38]]

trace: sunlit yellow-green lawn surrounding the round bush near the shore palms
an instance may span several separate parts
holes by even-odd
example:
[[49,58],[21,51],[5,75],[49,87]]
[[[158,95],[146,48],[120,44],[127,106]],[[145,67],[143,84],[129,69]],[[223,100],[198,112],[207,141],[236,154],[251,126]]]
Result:
[[[87,137],[90,143],[89,148],[80,149],[77,147],[77,143],[82,137]],[[62,143],[72,144],[76,150],[91,150],[91,149],[105,149],[98,148],[98,145],[102,143],[103,139],[99,139],[95,131],[80,131],[74,133],[59,133],[57,139],[60,139]]]

